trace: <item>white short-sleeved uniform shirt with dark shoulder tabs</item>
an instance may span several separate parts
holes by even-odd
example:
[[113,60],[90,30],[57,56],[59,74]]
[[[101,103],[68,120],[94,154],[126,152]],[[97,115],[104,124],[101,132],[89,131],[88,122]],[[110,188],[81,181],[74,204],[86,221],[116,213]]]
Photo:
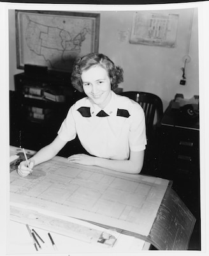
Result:
[[89,97],[71,106],[58,131],[61,140],[71,141],[78,134],[87,152],[108,159],[128,159],[130,150],[144,150],[147,138],[143,109],[134,100],[111,93],[103,109],[109,116],[96,116],[101,109]]

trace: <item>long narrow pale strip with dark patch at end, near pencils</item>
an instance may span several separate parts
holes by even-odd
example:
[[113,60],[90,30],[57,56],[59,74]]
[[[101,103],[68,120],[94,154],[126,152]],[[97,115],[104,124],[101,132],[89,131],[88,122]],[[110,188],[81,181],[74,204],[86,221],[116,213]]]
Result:
[[40,211],[34,211],[33,209],[22,209],[15,205],[10,205],[10,220],[42,228],[86,243],[113,246],[117,241],[117,238],[113,234],[110,234],[110,232],[81,225],[76,223],[78,221],[76,219],[74,223],[63,218],[44,214]]

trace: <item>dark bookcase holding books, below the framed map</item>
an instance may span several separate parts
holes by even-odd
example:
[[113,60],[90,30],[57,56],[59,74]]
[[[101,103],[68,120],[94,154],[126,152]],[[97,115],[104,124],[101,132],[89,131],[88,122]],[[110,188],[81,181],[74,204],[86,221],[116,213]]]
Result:
[[69,108],[83,97],[71,86],[70,77],[71,74],[55,71],[14,76],[10,145],[39,150],[54,140]]

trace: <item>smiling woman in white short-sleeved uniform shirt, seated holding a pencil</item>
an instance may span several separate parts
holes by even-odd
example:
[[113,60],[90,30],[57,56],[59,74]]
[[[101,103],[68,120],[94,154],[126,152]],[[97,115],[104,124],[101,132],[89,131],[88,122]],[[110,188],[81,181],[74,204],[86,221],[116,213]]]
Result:
[[31,157],[30,168],[25,161],[20,163],[18,173],[28,175],[33,164],[54,157],[76,135],[89,155],[69,156],[70,163],[140,173],[147,144],[145,115],[140,104],[113,92],[123,81],[122,73],[122,68],[103,54],[78,58],[71,82],[87,97],[71,106],[55,140]]

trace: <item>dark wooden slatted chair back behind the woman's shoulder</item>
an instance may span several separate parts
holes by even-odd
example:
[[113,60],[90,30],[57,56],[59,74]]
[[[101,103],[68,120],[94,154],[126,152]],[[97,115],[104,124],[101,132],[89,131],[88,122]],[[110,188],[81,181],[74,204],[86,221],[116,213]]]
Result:
[[153,93],[148,92],[122,92],[120,95],[133,99],[141,105],[145,111],[147,136],[154,132],[154,121],[156,115],[156,124],[161,122],[163,115],[162,100]]

